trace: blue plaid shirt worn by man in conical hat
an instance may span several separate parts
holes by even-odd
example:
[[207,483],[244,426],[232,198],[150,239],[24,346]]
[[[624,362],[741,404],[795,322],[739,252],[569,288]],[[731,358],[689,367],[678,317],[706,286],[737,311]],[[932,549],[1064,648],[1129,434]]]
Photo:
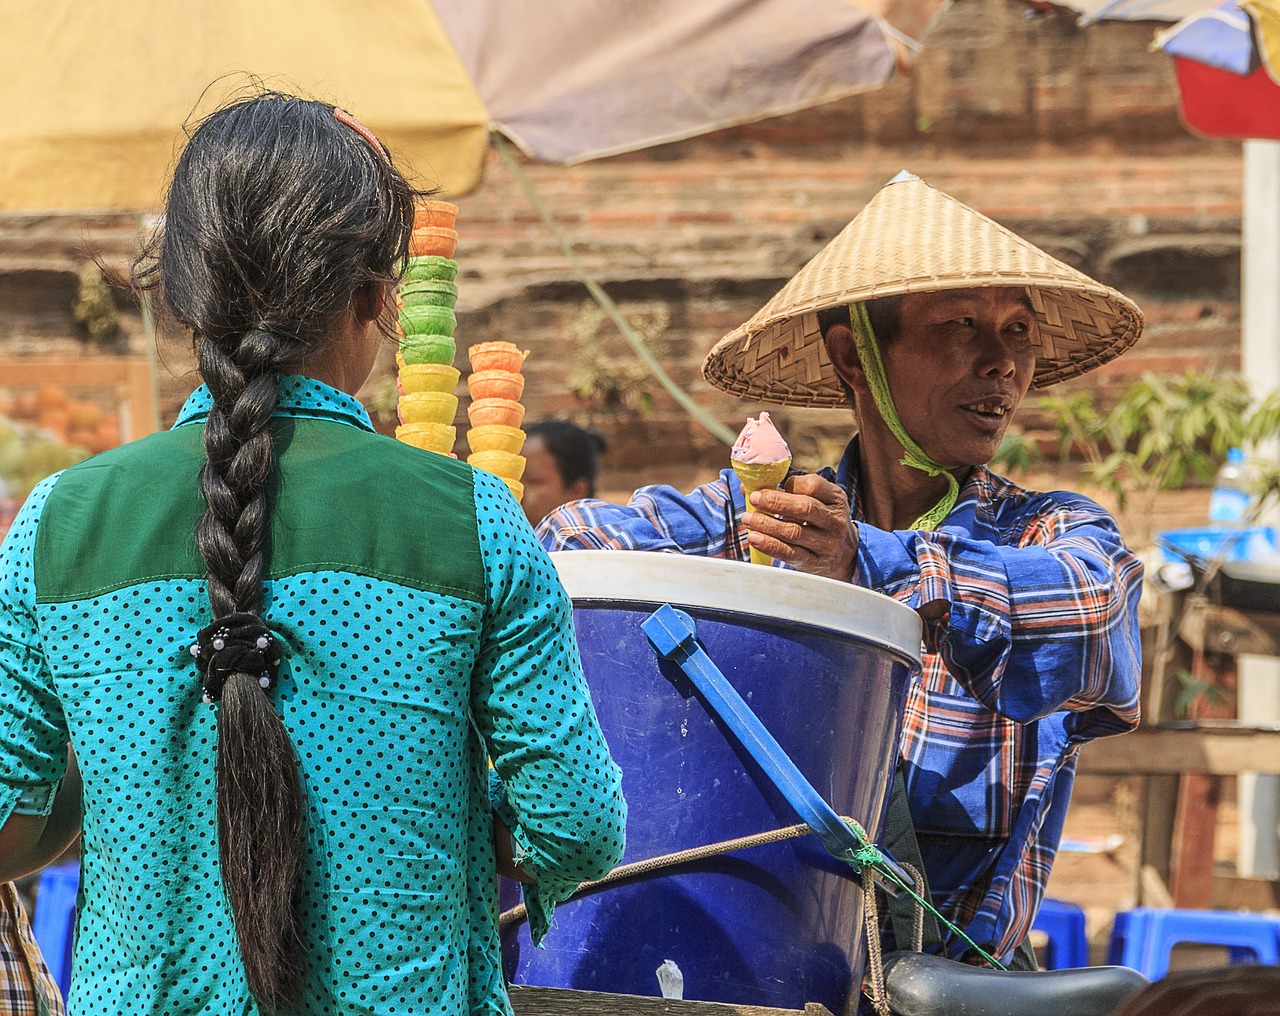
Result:
[[[984,467],[934,532],[867,525],[856,440],[820,475],[847,491],[859,523],[852,581],[942,608],[906,706],[911,816],[934,905],[1006,957],[1043,897],[1080,745],[1138,723],[1142,563],[1094,502],[1028,491]],[[742,512],[724,470],[689,494],[648,486],[625,507],[573,502],[538,535],[549,550],[740,558]],[[951,956],[966,951],[947,943]]]

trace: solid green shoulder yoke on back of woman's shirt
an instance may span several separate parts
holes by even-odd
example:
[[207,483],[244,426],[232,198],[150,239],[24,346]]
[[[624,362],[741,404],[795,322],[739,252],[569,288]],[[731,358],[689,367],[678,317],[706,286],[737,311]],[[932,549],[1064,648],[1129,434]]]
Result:
[[[271,578],[344,571],[484,601],[474,488],[447,481],[467,466],[329,420],[273,426]],[[202,431],[183,424],[67,470],[40,521],[37,603],[205,577],[195,539],[205,500],[192,482]]]

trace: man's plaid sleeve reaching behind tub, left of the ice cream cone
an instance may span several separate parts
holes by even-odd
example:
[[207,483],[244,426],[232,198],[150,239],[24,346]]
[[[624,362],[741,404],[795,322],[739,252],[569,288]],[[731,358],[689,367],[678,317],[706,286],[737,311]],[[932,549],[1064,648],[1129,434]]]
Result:
[[[742,488],[732,470],[681,494],[671,486],[644,486],[630,503],[570,502],[538,525],[548,550],[666,550],[708,558],[737,558]],[[737,536],[737,543],[733,537]]]

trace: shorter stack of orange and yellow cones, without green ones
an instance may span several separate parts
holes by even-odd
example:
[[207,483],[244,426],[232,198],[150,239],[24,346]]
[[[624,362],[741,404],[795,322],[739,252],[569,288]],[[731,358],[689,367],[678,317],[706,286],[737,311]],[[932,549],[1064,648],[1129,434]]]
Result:
[[509,342],[481,342],[467,349],[471,361],[467,462],[500,477],[516,500],[525,495],[525,485],[520,482],[525,475],[525,457],[520,454],[525,447],[525,431],[520,429],[525,420],[520,402],[525,375],[520,369],[526,356],[527,349],[521,352]]

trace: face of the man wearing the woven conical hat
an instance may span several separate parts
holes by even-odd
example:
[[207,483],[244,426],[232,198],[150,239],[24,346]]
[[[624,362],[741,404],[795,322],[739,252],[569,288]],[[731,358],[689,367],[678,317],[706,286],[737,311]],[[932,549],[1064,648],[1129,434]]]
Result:
[[941,466],[989,462],[1030,386],[1036,338],[1023,288],[904,297],[881,356],[906,433]]

